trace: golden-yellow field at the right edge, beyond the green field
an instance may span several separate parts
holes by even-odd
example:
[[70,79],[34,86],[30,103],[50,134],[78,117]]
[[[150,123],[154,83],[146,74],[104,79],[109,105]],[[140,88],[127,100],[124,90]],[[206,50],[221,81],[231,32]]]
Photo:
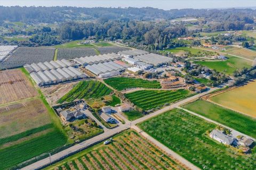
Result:
[[234,111],[256,117],[255,89],[256,81],[254,80],[244,86],[211,97],[210,101],[213,101],[214,103],[217,103]]

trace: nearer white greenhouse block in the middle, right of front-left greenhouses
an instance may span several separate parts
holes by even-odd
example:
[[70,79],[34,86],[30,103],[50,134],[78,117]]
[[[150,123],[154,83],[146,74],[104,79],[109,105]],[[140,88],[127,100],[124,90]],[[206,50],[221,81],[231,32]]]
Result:
[[[118,64],[119,63],[119,64]],[[98,63],[98,64],[92,64],[85,66],[85,69],[89,70],[93,74],[96,75],[104,75],[106,77],[106,73],[111,73],[109,75],[112,75],[113,73],[116,74],[117,71],[125,70],[128,67],[128,65],[125,65],[125,63],[120,62],[104,62],[104,63]]]

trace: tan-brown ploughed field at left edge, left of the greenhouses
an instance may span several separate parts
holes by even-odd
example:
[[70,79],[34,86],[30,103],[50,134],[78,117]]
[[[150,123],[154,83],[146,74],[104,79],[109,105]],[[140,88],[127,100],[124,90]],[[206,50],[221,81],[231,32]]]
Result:
[[33,84],[19,69],[0,71],[0,105],[37,95]]

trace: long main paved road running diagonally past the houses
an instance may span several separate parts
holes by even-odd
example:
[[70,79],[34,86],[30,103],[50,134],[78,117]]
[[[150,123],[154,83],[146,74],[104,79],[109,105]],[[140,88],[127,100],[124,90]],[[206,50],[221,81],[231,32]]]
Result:
[[[178,107],[179,105],[185,104],[185,103],[187,103],[187,102],[189,102],[189,101],[195,100],[195,99],[197,99],[197,98],[199,98],[199,97],[201,97],[201,96],[203,96],[203,95],[206,95],[206,94],[208,94],[209,92],[212,92],[213,90],[216,90],[216,89],[218,89],[218,88],[212,88],[212,89],[210,89],[210,90],[208,90],[208,91],[206,91],[206,92],[203,92],[203,93],[201,93],[201,94],[197,94],[197,95],[195,95],[195,96],[189,97],[189,98],[187,98],[187,99],[185,99],[185,100],[179,101],[178,103],[175,103],[175,104],[172,104],[172,105],[170,105],[170,106],[164,107],[163,109],[161,109],[161,110],[159,110],[159,111],[156,111],[156,112],[154,112],[154,113],[151,113],[151,114],[149,114],[149,115],[146,115],[146,116],[144,116],[144,117],[141,117],[141,118],[139,118],[138,120],[135,120],[135,121],[133,121],[133,122],[128,121],[125,117],[122,116],[122,118],[124,118],[124,120],[125,120],[125,122],[126,122],[125,124],[119,123],[119,126],[118,126],[117,128],[114,128],[114,129],[111,129],[111,130],[107,129],[104,133],[102,133],[102,134],[100,134],[100,135],[97,135],[96,137],[93,137],[93,138],[91,138],[91,139],[89,139],[89,140],[86,140],[86,141],[84,141],[84,142],[78,143],[77,145],[74,145],[73,147],[70,147],[70,148],[67,148],[67,149],[65,149],[65,150],[63,150],[63,151],[61,151],[61,152],[58,152],[57,154],[54,154],[54,155],[51,156],[51,161],[52,161],[52,162],[58,162],[59,160],[63,159],[63,157],[66,157],[67,155],[68,155],[68,156],[69,156],[69,155],[73,155],[73,154],[75,154],[76,152],[81,151],[81,150],[83,150],[83,149],[85,149],[85,148],[87,148],[87,147],[93,145],[94,143],[103,141],[103,140],[105,140],[105,139],[107,139],[107,138],[110,138],[111,136],[113,136],[113,135],[115,135],[115,134],[117,134],[117,133],[119,133],[119,132],[121,132],[121,131],[123,131],[123,130],[125,130],[125,129],[129,129],[131,126],[134,127],[134,125],[136,125],[137,123],[140,123],[140,122],[142,122],[142,121],[147,120],[148,118],[151,118],[151,117],[154,117],[154,116],[156,116],[156,115],[158,115],[158,114],[161,114],[161,113],[164,113],[164,112],[166,112],[166,111],[169,111],[170,109],[173,109],[173,108],[175,108],[175,107]],[[87,114],[87,115],[88,115],[88,114]],[[92,115],[89,115],[89,116],[92,116]],[[97,119],[95,118],[95,120],[97,120]],[[97,122],[97,123],[98,123],[98,122]],[[99,123],[99,124],[100,124],[100,123]],[[158,142],[157,140],[154,140],[154,141],[156,142],[156,143],[155,143],[156,145],[161,145],[161,143]],[[162,148],[163,148],[163,149],[166,149],[166,148],[164,148],[164,147],[162,147]],[[171,152],[170,149],[169,149],[169,151]],[[180,159],[180,158],[181,158],[180,156],[177,157],[177,159],[178,159],[181,163],[184,163],[184,164],[187,165],[188,167],[190,166],[190,164],[188,164],[187,162],[183,162],[183,159]],[[50,158],[49,158],[49,157],[47,157],[47,158],[45,158],[45,159],[42,159],[42,160],[39,160],[38,162],[33,163],[33,164],[31,164],[31,165],[28,165],[28,166],[26,166],[26,167],[23,167],[22,170],[39,169],[39,168],[41,168],[41,167],[43,167],[43,166],[46,166],[46,165],[50,165]]]

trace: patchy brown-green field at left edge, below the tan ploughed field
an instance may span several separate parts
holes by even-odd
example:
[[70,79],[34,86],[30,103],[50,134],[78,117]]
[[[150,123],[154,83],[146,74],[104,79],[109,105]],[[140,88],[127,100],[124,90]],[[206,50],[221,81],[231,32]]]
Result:
[[0,107],[0,137],[5,138],[51,123],[40,99]]

